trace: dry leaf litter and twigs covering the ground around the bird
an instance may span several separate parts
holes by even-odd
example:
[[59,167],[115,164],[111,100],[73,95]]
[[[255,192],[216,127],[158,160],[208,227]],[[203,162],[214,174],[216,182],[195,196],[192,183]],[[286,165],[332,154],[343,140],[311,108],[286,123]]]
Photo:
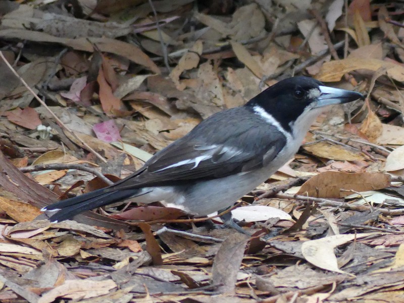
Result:
[[[400,5],[5,2],[0,301],[402,301]],[[252,237],[158,203],[57,224],[39,211],[129,175],[292,75],[368,98],[322,114],[294,159],[239,201]]]

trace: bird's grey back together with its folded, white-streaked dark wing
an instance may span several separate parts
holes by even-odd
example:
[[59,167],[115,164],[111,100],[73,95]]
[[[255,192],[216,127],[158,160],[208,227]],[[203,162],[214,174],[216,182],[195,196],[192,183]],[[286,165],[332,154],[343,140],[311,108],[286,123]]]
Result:
[[[241,111],[242,115],[237,111]],[[215,179],[260,168],[264,161],[267,163],[276,157],[285,145],[286,137],[276,127],[257,117],[257,114],[245,108],[215,114],[183,138],[159,151],[141,171],[108,190],[175,185],[186,180]],[[210,123],[206,123],[208,120],[211,120]],[[212,129],[211,123],[217,128]],[[229,136],[229,129],[237,133]],[[210,142],[215,142],[215,146]],[[201,155],[211,157],[201,160],[196,167],[195,163],[172,166]],[[167,168],[169,166],[172,167]]]

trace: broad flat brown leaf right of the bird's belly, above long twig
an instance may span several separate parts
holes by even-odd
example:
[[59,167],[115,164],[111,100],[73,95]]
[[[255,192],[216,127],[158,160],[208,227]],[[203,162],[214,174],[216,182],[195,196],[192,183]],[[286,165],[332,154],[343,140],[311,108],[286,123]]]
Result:
[[388,174],[323,172],[306,181],[298,194],[318,198],[341,198],[351,194],[350,190],[367,191],[388,186],[390,186]]

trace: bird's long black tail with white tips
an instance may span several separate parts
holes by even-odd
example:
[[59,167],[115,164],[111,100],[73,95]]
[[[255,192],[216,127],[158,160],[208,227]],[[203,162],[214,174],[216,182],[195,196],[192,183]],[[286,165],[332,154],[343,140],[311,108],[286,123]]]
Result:
[[49,220],[54,223],[61,222],[71,219],[84,211],[136,196],[136,193],[137,190],[133,189],[106,191],[105,188],[102,188],[48,205],[41,211],[58,211]]

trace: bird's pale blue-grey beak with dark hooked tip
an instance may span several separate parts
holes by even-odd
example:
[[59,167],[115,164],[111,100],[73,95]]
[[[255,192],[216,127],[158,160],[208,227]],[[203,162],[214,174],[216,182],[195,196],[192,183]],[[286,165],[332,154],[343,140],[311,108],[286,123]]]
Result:
[[317,98],[317,108],[334,104],[344,104],[358,99],[365,99],[365,96],[357,91],[319,86],[320,96]]

